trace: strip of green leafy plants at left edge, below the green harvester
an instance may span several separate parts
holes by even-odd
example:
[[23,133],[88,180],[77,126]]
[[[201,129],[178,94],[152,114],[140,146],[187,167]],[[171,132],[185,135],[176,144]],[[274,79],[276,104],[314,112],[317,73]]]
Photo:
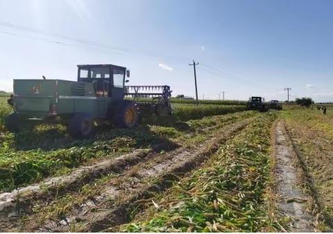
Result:
[[96,157],[130,152],[135,142],[129,137],[116,137],[108,141],[70,147],[69,149],[44,151],[0,150],[0,190],[12,190],[16,186],[31,183],[64,168],[75,168]]

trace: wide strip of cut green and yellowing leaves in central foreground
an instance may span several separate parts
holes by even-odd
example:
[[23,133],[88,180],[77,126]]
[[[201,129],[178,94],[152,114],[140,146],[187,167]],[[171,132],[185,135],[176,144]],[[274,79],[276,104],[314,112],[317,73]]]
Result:
[[139,221],[121,226],[129,232],[271,231],[265,210],[270,130],[276,116],[262,115],[221,146],[200,170],[180,180]]

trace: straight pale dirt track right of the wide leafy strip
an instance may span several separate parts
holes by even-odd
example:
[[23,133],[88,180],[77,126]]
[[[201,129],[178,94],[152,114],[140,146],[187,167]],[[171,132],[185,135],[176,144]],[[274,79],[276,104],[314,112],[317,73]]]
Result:
[[275,183],[276,206],[280,217],[291,219],[292,232],[314,232],[314,217],[307,210],[307,197],[300,188],[298,179],[298,156],[293,150],[291,139],[284,123],[275,125]]

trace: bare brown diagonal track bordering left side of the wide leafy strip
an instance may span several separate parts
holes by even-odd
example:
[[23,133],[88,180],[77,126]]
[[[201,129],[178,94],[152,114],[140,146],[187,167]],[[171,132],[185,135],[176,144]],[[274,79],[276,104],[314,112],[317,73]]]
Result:
[[[24,231],[101,231],[128,221],[128,212],[135,201],[149,199],[154,192],[162,192],[189,170],[200,165],[219,150],[221,143],[244,129],[255,118],[247,118],[223,127],[216,135],[194,149],[178,149],[157,155],[138,165],[135,171],[123,172],[103,185],[100,195],[90,197],[74,207],[61,220],[46,220],[44,224],[26,223]],[[176,175],[175,175],[176,174]],[[135,207],[138,208],[138,207]]]

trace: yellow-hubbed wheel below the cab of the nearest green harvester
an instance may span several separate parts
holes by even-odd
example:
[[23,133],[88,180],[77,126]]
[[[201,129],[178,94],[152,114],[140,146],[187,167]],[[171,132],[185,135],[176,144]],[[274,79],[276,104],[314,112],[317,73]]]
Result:
[[141,116],[135,102],[121,102],[115,114],[114,124],[116,127],[133,128],[139,125]]

